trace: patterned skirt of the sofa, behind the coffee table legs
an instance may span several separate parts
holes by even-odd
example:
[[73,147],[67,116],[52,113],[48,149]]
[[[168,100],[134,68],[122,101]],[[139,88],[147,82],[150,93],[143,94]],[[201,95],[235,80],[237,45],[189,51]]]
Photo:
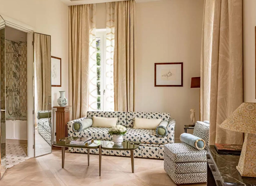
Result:
[[[68,151],[73,153],[87,153],[87,148],[68,148]],[[90,149],[91,154],[99,154],[99,149]],[[129,150],[102,150],[103,155],[114,156],[131,156]],[[157,158],[164,159],[164,145],[141,143],[141,145],[134,150],[134,157],[141,158]]]

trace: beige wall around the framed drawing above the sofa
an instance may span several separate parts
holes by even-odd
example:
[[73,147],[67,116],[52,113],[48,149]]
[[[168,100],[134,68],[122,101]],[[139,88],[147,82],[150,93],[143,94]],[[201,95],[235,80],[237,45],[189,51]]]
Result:
[[[204,0],[136,4],[135,111],[169,112],[176,139],[190,123],[191,108],[199,120],[200,92],[190,80],[200,76],[203,6]],[[183,62],[183,87],[154,87],[154,63],[163,62]]]

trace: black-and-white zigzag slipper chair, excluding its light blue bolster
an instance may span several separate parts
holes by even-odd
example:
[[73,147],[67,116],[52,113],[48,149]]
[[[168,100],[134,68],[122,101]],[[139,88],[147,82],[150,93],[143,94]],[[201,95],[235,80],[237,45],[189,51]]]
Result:
[[[208,145],[209,124],[197,121],[193,135]],[[186,143],[165,144],[164,170],[176,184],[206,182],[206,148],[198,150]]]

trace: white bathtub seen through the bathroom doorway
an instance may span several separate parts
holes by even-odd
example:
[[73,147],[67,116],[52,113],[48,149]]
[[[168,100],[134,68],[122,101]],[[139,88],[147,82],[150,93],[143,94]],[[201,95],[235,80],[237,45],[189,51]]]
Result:
[[[27,140],[28,139],[28,122],[27,118],[17,117],[12,119],[6,118],[6,139],[19,139]],[[26,120],[22,120],[26,119]]]

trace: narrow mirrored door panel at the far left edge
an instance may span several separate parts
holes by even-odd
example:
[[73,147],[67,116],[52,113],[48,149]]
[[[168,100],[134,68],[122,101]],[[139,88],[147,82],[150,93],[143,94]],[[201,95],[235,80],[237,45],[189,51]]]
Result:
[[0,16],[0,179],[6,170],[5,136],[5,21]]

